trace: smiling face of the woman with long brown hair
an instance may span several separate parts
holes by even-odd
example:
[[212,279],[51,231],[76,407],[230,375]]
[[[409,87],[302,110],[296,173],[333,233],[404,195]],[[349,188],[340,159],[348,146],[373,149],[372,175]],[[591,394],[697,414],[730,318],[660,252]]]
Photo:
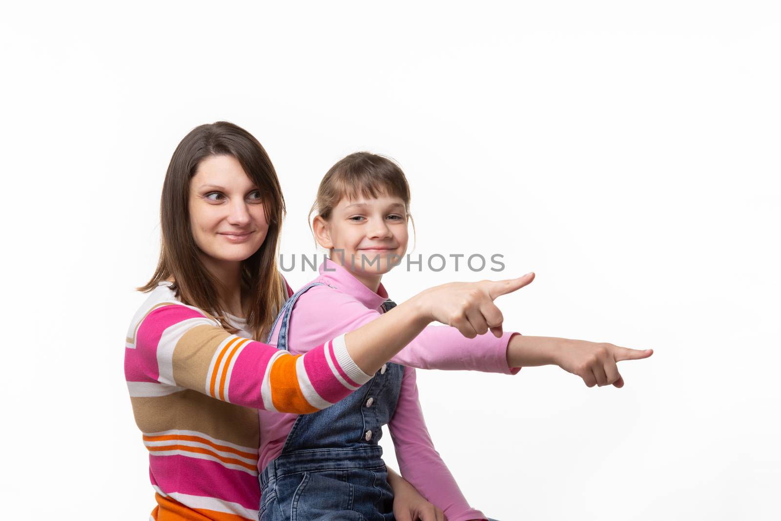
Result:
[[248,259],[266,240],[262,194],[232,155],[198,165],[190,180],[190,224],[207,266]]

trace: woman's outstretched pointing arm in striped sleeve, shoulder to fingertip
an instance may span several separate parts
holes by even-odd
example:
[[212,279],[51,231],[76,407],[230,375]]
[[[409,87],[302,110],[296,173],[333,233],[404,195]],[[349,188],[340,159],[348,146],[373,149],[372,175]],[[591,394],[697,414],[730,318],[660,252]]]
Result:
[[501,327],[501,312],[493,299],[532,279],[430,288],[305,355],[230,334],[198,309],[164,302],[131,327],[125,351],[127,386],[131,398],[191,389],[255,409],[315,412],[365,384],[433,320],[451,323],[465,335],[483,325]]

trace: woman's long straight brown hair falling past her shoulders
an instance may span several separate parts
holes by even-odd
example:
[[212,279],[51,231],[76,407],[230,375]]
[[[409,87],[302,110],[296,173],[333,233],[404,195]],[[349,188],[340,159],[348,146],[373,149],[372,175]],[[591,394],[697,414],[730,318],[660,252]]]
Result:
[[201,262],[190,227],[190,182],[200,162],[212,155],[237,159],[262,193],[269,231],[258,251],[241,263],[241,300],[247,303],[247,325],[255,339],[262,340],[287,298],[276,268],[285,202],[266,150],[252,134],[233,123],[218,121],[195,127],[173,152],[160,200],[160,259],[152,279],[138,291],[152,291],[159,282],[173,277],[172,289],[182,303],[211,314],[226,330],[236,332],[227,323],[226,306],[219,300],[220,283]]

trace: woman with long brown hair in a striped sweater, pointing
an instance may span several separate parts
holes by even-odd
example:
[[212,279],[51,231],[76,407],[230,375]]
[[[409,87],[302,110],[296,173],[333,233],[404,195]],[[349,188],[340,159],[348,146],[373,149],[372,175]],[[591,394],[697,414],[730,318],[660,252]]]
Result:
[[[366,327],[290,355],[251,340],[266,334],[292,293],[275,264],[283,216],[271,161],[246,130],[202,125],[177,146],[162,189],[159,264],[140,288],[150,294],[125,350],[158,502],[152,519],[257,519],[258,409],[325,409],[433,320],[476,314],[501,325],[493,298],[533,278],[434,287]],[[410,498],[405,509],[424,502]]]

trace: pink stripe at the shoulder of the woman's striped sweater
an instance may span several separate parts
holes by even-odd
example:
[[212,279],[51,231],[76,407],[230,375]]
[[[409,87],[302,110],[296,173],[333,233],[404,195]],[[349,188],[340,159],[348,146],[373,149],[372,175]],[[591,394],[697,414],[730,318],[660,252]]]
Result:
[[203,317],[184,305],[164,305],[149,313],[136,333],[136,348],[125,349],[125,380],[129,382],[156,382],[160,376],[157,366],[157,347],[162,332],[186,319]]

